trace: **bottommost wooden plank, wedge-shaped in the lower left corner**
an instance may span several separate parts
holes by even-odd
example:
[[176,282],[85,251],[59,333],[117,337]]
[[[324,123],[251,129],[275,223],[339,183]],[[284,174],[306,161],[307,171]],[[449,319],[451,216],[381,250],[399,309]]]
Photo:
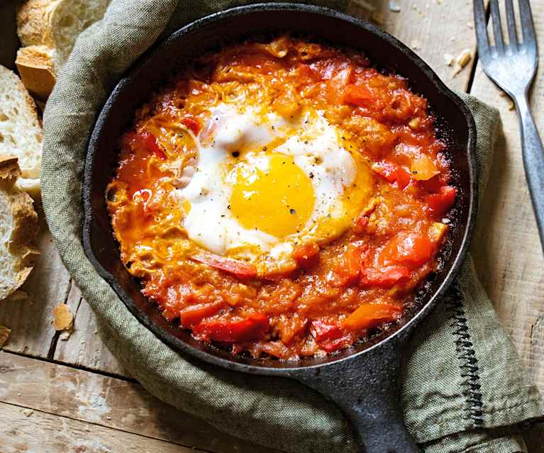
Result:
[[[30,415],[27,415],[30,414]],[[161,440],[0,403],[2,453],[199,453]],[[204,452],[201,452],[204,453]]]

